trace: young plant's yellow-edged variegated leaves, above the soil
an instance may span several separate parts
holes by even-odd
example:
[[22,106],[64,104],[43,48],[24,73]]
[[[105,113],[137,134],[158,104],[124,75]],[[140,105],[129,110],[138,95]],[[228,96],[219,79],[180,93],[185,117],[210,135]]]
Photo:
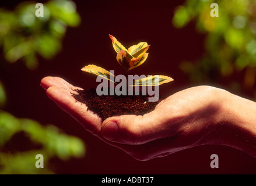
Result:
[[[139,44],[133,45],[126,49],[119,41],[117,41],[115,37],[112,35],[109,36],[112,41],[113,48],[115,52],[117,52],[117,62],[125,68],[126,73],[127,71],[142,65],[142,63],[144,63],[148,58],[148,53],[146,53],[146,51],[148,51],[150,45],[148,45],[146,42],[139,42]],[[114,76],[114,74],[99,66],[87,65],[81,70],[86,71],[87,73],[92,73],[96,76],[101,76],[117,84],[115,82],[115,79],[117,78]],[[169,83],[170,81],[173,81],[173,78],[169,76],[155,75],[135,80],[128,86],[157,86],[164,83]]]

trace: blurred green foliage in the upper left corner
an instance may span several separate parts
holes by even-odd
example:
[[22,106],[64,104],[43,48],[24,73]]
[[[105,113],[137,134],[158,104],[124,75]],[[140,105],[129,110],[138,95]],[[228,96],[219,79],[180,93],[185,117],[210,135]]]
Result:
[[68,0],[43,4],[43,17],[37,17],[36,2],[20,3],[14,11],[0,9],[0,47],[8,62],[23,59],[29,69],[38,65],[37,56],[52,58],[61,50],[66,28],[76,27],[80,16]]

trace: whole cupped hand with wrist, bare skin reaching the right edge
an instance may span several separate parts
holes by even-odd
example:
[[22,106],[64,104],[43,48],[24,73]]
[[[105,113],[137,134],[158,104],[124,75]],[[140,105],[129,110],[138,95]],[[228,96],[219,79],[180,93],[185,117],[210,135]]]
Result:
[[103,121],[73,98],[71,93],[79,87],[59,77],[44,77],[40,85],[85,130],[135,159],[149,160],[206,144],[232,146],[256,157],[256,104],[225,90],[188,88],[146,115]]

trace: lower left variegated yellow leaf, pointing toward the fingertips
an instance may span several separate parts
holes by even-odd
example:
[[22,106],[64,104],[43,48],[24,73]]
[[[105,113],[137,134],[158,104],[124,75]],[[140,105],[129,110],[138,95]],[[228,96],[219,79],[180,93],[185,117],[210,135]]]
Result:
[[[96,65],[87,65],[81,69],[82,71],[86,71],[88,73],[94,74],[96,76],[101,76],[103,78],[106,78],[109,81],[112,81],[115,83],[115,76],[114,74],[110,73],[110,71],[107,71],[99,66]],[[114,80],[114,81],[113,81]],[[116,83],[115,83],[116,84]]]

